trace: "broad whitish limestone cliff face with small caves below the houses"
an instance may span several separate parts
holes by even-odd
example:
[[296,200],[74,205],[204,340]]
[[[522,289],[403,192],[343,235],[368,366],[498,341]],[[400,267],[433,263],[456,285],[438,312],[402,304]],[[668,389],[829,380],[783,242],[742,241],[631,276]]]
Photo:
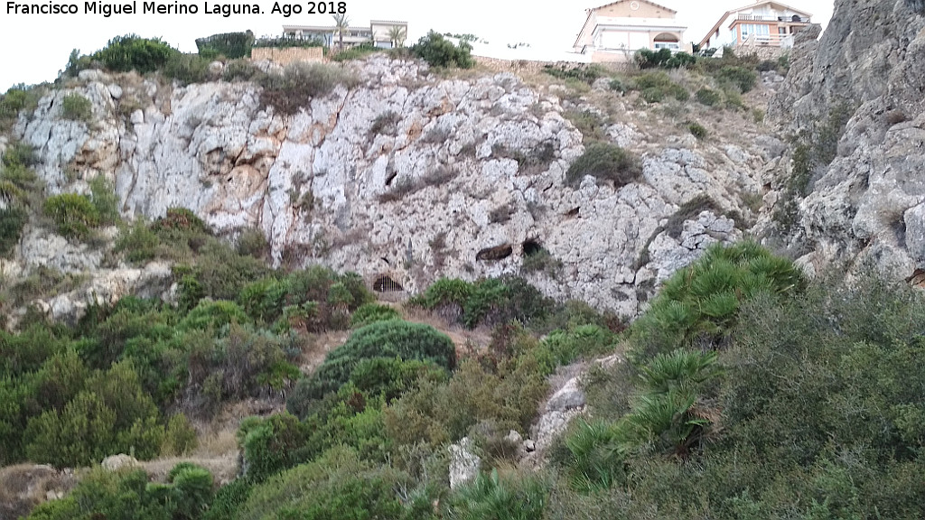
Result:
[[[358,86],[294,116],[262,105],[252,83],[169,87],[94,71],[45,96],[16,131],[38,150],[52,192],[87,192],[105,175],[124,217],[184,206],[222,233],[263,230],[277,263],[353,270],[371,285],[388,276],[407,291],[441,276],[521,273],[541,248],[561,262],[527,274],[542,291],[630,316],[707,244],[741,236],[743,224],[720,213],[741,213],[741,193],[761,190],[773,146],[698,144],[676,125],[653,137],[637,124],[646,114],[620,102],[605,135],[641,156],[642,179],[614,189],[588,177],[573,188],[564,178],[583,136],[556,89],[509,73],[440,79],[384,56],[347,67]],[[93,103],[89,124],[61,118],[68,91]],[[698,195],[722,211],[660,236]],[[43,240],[27,240],[20,265],[99,264]]]

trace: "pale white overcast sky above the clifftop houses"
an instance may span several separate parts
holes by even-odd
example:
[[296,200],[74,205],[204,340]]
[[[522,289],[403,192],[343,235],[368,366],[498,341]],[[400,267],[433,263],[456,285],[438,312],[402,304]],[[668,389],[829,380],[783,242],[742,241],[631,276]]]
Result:
[[[134,0],[137,10],[144,0]],[[230,2],[231,0],[218,0]],[[182,0],[198,7],[197,14],[121,14],[105,18],[85,13],[85,3],[122,4],[132,0],[0,0],[0,33],[6,44],[0,64],[0,92],[18,83],[34,84],[55,80],[68,63],[72,49],[91,54],[105,46],[113,36],[136,33],[159,37],[184,52],[196,51],[196,38],[219,32],[251,30],[257,36],[279,35],[282,25],[330,25],[329,14],[308,14],[312,2],[279,2],[278,6],[301,6],[302,14],[272,13],[274,0],[240,0],[254,3],[261,14],[223,17],[221,4],[213,0]],[[175,6],[179,0],[159,0]],[[15,14],[15,5],[50,6],[73,3],[77,14]],[[606,0],[553,2],[550,0],[467,0],[465,2],[425,2],[424,0],[348,0],[343,2],[351,25],[368,25],[370,19],[408,22],[408,43],[416,42],[428,30],[474,33],[489,44],[481,46],[484,54],[495,52],[509,57],[508,44],[529,43],[518,50],[522,59],[564,59],[571,51],[578,31],[585,21],[585,9],[607,3]],[[677,19],[687,25],[685,39],[698,42],[727,9],[744,6],[748,0],[661,0],[661,5],[678,11]],[[322,2],[326,6],[337,2]],[[832,17],[833,0],[789,0],[788,5],[808,11],[813,21],[823,27]],[[218,11],[219,14],[206,14]],[[315,9],[320,7],[315,4]],[[21,10],[21,7],[20,7]],[[492,51],[492,48],[495,51]]]

